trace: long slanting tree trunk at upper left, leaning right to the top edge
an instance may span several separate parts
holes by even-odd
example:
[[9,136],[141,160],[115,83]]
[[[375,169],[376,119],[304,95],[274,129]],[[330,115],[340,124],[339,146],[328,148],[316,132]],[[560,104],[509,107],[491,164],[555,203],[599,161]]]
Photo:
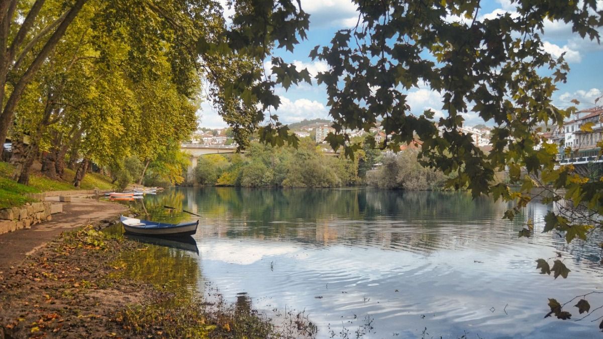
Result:
[[[71,22],[75,19],[75,16],[80,12],[81,7],[84,5],[86,0],[76,0],[75,4],[69,10],[69,13],[65,16],[65,19],[58,25],[57,30],[52,33],[52,36],[46,41],[42,50],[36,55],[36,58],[31,62],[31,65],[27,68],[27,71],[19,78],[16,84],[13,87],[13,90],[10,93],[10,97],[6,101],[5,106],[2,109],[2,114],[0,115],[0,141],[4,143],[8,133],[8,127],[10,127],[11,122],[13,121],[14,109],[17,106],[17,103],[21,99],[21,95],[25,90],[27,84],[30,83],[33,76],[36,74],[38,69],[42,66],[43,62],[46,60],[46,57],[50,54],[50,52],[55,48],[59,40],[65,35],[65,31],[67,27],[71,24]],[[26,18],[27,21],[27,18]],[[3,23],[4,24],[4,23]],[[20,33],[20,32],[19,32]],[[12,46],[11,46],[12,47]],[[0,46],[3,48],[3,46]],[[2,75],[0,75],[0,80],[2,77],[5,77],[5,71],[7,68],[4,68],[4,63],[7,62],[4,58],[4,52],[2,52]],[[0,83],[0,86],[4,87],[4,83]],[[0,158],[2,158],[2,153],[4,153],[4,147],[0,147]]]

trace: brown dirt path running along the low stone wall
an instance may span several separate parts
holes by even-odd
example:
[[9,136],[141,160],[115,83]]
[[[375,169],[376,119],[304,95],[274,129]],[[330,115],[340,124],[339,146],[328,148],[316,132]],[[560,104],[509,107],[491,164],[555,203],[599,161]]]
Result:
[[[48,197],[46,201],[58,201],[58,197]],[[71,203],[63,203],[63,212],[53,214],[51,221],[0,235],[0,272],[21,262],[65,230],[112,219],[125,211],[127,208],[120,204],[72,196]]]

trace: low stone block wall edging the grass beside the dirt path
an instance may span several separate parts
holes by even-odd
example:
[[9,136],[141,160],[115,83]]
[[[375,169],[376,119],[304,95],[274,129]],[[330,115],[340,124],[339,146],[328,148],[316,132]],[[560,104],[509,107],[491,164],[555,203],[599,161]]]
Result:
[[29,229],[42,221],[52,220],[52,213],[63,211],[60,204],[28,203],[25,206],[0,209],[0,234]]

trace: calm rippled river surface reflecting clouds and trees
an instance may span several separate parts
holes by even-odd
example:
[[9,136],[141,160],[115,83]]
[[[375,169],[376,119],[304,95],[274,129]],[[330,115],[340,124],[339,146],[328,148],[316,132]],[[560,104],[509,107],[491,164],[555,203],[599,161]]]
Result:
[[[231,302],[246,293],[271,317],[305,310],[320,338],[603,337],[590,322],[601,310],[581,322],[543,318],[548,297],[566,302],[601,287],[599,241],[567,245],[540,233],[552,205],[531,203],[511,222],[506,204],[456,192],[175,188],[137,204],[166,221],[192,216],[163,205],[202,216],[198,255],[159,254],[186,261],[189,287],[210,281]],[[517,238],[529,219],[535,236]],[[569,277],[538,274],[535,259],[557,252]],[[603,305],[597,294],[589,301]]]

